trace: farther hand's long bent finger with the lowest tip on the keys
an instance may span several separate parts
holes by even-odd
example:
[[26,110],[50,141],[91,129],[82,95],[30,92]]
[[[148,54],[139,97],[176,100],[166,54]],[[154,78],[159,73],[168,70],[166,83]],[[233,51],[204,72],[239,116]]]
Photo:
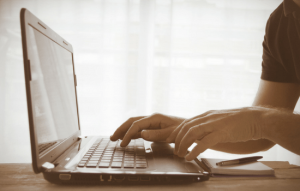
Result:
[[133,122],[131,127],[126,132],[123,141],[121,142],[120,145],[122,147],[127,146],[130,140],[132,139],[132,137],[139,131],[142,131],[144,129],[160,128],[160,124],[163,123],[163,120],[165,120],[164,117],[162,117],[159,114],[155,114]]

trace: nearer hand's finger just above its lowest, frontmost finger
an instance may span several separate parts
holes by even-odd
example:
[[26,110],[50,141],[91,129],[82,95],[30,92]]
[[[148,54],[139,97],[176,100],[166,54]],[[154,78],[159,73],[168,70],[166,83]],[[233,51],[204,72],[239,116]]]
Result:
[[178,144],[177,155],[179,157],[184,157],[186,155],[188,148],[197,139],[200,139],[209,133],[210,131],[207,129],[207,127],[204,127],[202,124],[190,128]]

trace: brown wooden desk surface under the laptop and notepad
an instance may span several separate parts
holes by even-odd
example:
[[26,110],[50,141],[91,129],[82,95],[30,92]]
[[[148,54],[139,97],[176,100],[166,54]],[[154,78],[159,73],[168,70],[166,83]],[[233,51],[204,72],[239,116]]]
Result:
[[34,174],[31,164],[0,164],[0,190],[112,190],[112,191],[184,191],[184,190],[228,190],[228,191],[247,191],[247,190],[271,190],[271,191],[292,191],[300,190],[300,177],[286,178],[267,178],[252,180],[209,180],[189,185],[122,185],[122,186],[101,186],[101,185],[55,185],[44,180],[42,174]]

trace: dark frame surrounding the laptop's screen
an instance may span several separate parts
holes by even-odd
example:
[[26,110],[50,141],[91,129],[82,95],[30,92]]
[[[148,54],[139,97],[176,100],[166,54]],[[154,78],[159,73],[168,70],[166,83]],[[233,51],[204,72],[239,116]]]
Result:
[[[22,34],[22,47],[23,47],[23,62],[24,62],[24,76],[25,76],[25,86],[26,86],[26,97],[27,97],[27,109],[28,109],[28,122],[30,130],[30,142],[31,142],[31,156],[32,156],[32,167],[35,173],[42,172],[42,165],[45,162],[53,163],[66,149],[68,149],[74,142],[78,140],[80,136],[80,121],[79,121],[79,110],[78,110],[78,100],[77,100],[77,80],[74,67],[74,57],[73,57],[73,47],[72,45],[63,39],[60,35],[54,32],[49,26],[44,22],[34,16],[30,11],[25,8],[22,8],[20,11],[20,22],[21,22],[21,34]],[[29,26],[31,25],[31,26]],[[34,127],[33,120],[33,110],[32,110],[32,97],[30,91],[30,81],[31,81],[31,72],[30,72],[30,60],[29,57],[29,48],[27,47],[28,39],[28,27],[33,27],[39,32],[43,33],[49,39],[65,48],[72,54],[72,65],[73,65],[73,78],[74,78],[74,88],[75,88],[75,99],[76,99],[76,108],[77,108],[77,117],[78,117],[78,131],[76,131],[72,136],[67,140],[57,145],[56,147],[50,149],[43,156],[39,156],[38,149],[38,139],[37,133]]]

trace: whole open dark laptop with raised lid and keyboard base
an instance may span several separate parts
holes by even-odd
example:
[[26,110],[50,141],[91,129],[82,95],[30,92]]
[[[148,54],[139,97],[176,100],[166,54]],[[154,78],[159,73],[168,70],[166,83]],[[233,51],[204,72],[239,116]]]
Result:
[[70,42],[23,8],[20,12],[32,167],[52,183],[188,183],[209,179],[173,145],[82,136]]

